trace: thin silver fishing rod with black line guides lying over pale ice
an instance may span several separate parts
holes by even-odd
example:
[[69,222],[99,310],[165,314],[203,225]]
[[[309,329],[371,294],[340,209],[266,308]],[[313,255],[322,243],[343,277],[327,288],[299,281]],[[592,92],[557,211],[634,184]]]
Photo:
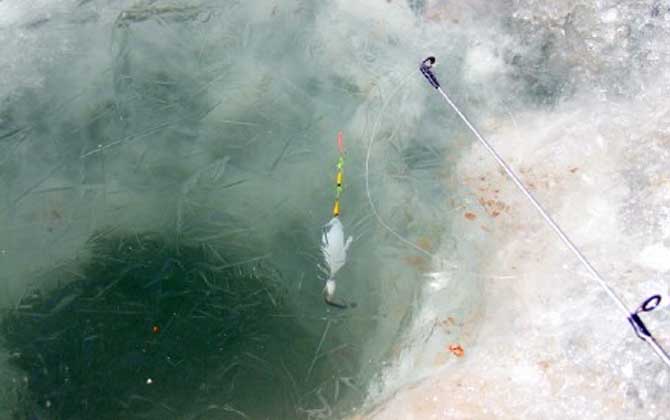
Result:
[[600,285],[600,287],[605,290],[610,299],[618,306],[625,314],[626,319],[630,322],[630,325],[633,327],[635,334],[647,343],[656,355],[665,363],[665,365],[670,368],[670,355],[665,351],[665,349],[656,341],[653,334],[640,318],[642,312],[651,312],[658,307],[661,303],[660,295],[653,295],[647,298],[640,306],[637,307],[634,311],[630,312],[624,304],[623,300],[607,285],[605,279],[600,275],[600,273],[593,267],[589,260],[584,256],[584,254],[577,248],[577,246],[568,238],[568,236],[563,232],[563,230],[558,226],[554,219],[549,216],[549,214],[544,210],[542,205],[535,199],[533,194],[524,186],[521,179],[517,176],[514,170],[505,162],[505,160],[496,152],[496,150],[491,146],[491,144],[486,141],[486,139],[479,133],[477,128],[470,122],[468,117],[461,112],[461,110],[456,106],[456,104],[449,98],[449,95],[442,89],[440,82],[438,82],[437,77],[433,73],[433,66],[435,65],[435,57],[428,57],[421,62],[419,70],[425,76],[426,80],[432,87],[434,87],[444,100],[451,106],[451,108],[458,114],[458,116],[463,120],[465,125],[470,129],[472,134],[477,137],[477,140],[484,146],[484,148],[493,156],[493,158],[498,162],[498,164],[505,170],[507,175],[512,179],[512,182],[519,188],[528,201],[533,204],[535,209],[540,213],[540,216],[544,219],[545,222],[556,232],[556,234],[561,238],[563,243],[572,251],[573,254],[579,259],[579,261],[586,267],[587,271],[591,274],[591,277]]

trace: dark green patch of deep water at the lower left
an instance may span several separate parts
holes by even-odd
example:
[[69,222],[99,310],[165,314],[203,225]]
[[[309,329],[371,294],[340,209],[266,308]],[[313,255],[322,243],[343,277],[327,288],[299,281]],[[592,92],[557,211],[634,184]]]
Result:
[[319,354],[342,345],[332,335],[271,316],[291,308],[262,257],[211,260],[211,244],[157,233],[98,233],[89,248],[0,324],[26,378],[15,418],[304,418],[340,399],[330,378],[355,373],[351,355]]

